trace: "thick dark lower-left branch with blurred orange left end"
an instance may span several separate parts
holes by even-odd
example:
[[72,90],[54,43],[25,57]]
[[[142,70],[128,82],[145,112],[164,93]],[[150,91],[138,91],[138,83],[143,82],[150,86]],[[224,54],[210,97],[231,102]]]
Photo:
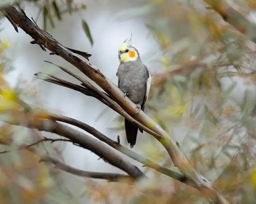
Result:
[[[70,128],[67,125],[63,125],[57,123],[55,121],[47,120],[47,119],[38,119],[26,115],[25,112],[16,113],[16,117],[3,119],[2,121],[5,123],[25,126],[27,128],[34,128],[39,131],[45,131],[50,133],[55,133],[60,136],[66,137],[72,142],[78,144],[80,147],[88,149],[104,160],[109,164],[122,169],[126,173],[128,173],[131,177],[138,180],[142,177],[146,177],[142,171],[140,171],[136,166],[131,164],[130,162],[124,160],[119,154],[113,151],[110,147],[106,146],[101,141],[98,141],[80,131],[77,131],[73,128]],[[21,121],[17,121],[16,118],[22,118]],[[24,121],[24,118],[27,118],[27,121]]]

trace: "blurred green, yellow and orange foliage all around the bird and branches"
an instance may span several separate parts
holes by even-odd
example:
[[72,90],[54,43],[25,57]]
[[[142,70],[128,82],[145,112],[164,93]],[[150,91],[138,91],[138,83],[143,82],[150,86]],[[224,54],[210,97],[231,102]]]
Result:
[[[19,2],[20,7],[24,2]],[[86,8],[72,0],[28,2],[39,8],[45,29],[48,23],[54,27],[63,14]],[[229,3],[248,19],[256,18],[255,1]],[[159,43],[162,69],[152,73],[146,113],[179,141],[196,169],[230,200],[255,203],[256,46],[207,6],[200,0],[150,0],[127,8],[120,16],[143,18]],[[86,21],[82,26],[93,44]],[[17,100],[29,94],[25,88],[9,87],[4,80],[4,74],[12,70],[8,49],[8,41],[1,39],[0,111],[15,113],[21,108]],[[124,134],[123,118],[116,121],[115,130]],[[4,123],[0,133],[2,144],[11,141],[10,149],[40,136]],[[166,151],[152,137],[147,138],[148,142],[136,144],[141,154],[177,171]],[[79,195],[70,195],[63,190],[64,179],[38,163],[43,150],[36,146],[0,154],[0,203],[78,203],[78,197],[95,203],[207,203],[195,189],[146,167],[150,180],[109,183],[87,179]]]

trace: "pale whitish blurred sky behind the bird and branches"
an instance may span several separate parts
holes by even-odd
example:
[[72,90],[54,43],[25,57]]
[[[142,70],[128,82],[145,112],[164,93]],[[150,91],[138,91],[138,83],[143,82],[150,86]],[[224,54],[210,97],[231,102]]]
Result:
[[[119,65],[117,50],[124,39],[130,37],[130,32],[132,32],[132,44],[139,50],[142,61],[147,65],[148,69],[152,72],[153,70],[159,70],[161,67],[158,64],[158,44],[145,27],[143,20],[131,19],[131,16],[124,16],[122,20],[118,20],[116,17],[118,12],[124,8],[129,8],[130,5],[136,5],[136,2],[135,0],[84,1],[87,4],[87,9],[82,13],[81,17],[89,25],[94,39],[93,47],[91,47],[82,29],[81,19],[78,14],[72,16],[69,14],[63,15],[62,22],[55,21],[56,27],[54,29],[48,23],[47,31],[64,46],[91,53],[93,56],[89,59],[90,63],[94,64],[106,77],[117,84],[116,71]],[[32,7],[31,4],[26,4],[24,10],[28,17],[33,17],[34,19],[38,14],[37,8]],[[42,18],[39,18],[37,23],[41,28],[43,28],[42,22]],[[3,31],[0,32],[0,39],[8,39],[12,46],[10,56],[14,60],[15,70],[6,75],[6,79],[11,86],[17,85],[19,79],[27,80],[30,86],[34,86],[40,91],[40,101],[49,112],[81,120],[106,136],[114,140],[117,139],[118,132],[115,133],[109,130],[109,128],[116,126],[111,121],[117,116],[114,111],[109,110],[95,122],[97,116],[105,108],[101,102],[68,88],[36,80],[33,75],[38,71],[49,72],[53,70],[57,77],[77,83],[69,75],[44,63],[44,60],[64,66],[83,76],[79,70],[66,63],[61,57],[49,55],[50,52],[48,50],[43,52],[38,45],[31,45],[32,38],[21,29],[19,29],[19,33],[16,33],[7,20],[1,23],[1,28],[3,28]],[[26,101],[26,98],[24,99]],[[47,136],[52,137],[49,134]],[[127,145],[125,136],[120,136],[120,139],[123,145]],[[136,146],[134,150],[136,151]],[[82,170],[121,172],[110,164],[103,162],[102,159],[97,160],[99,157],[94,153],[71,143],[66,144],[63,156],[67,164]],[[139,166],[142,165],[140,164]],[[69,182],[74,182],[75,184],[75,182],[81,181],[80,177],[66,175],[68,175]]]

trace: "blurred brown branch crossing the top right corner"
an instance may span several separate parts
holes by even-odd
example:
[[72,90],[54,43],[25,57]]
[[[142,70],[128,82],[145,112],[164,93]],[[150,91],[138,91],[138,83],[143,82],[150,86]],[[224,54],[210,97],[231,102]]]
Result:
[[203,0],[216,11],[224,21],[231,24],[235,29],[246,34],[250,40],[256,43],[256,24],[248,21],[238,11],[234,10],[225,0]]

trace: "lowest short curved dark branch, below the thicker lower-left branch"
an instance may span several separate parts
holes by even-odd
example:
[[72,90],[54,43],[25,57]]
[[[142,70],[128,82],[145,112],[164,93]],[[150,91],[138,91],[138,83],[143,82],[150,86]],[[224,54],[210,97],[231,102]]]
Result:
[[128,179],[131,177],[124,174],[119,173],[105,173],[105,172],[91,172],[91,171],[83,171],[80,169],[76,169],[74,167],[63,164],[59,159],[51,157],[49,155],[41,156],[40,161],[42,162],[51,162],[58,169],[66,171],[68,173],[81,176],[81,177],[90,177],[94,179],[106,179],[109,181],[118,181],[119,179]]

